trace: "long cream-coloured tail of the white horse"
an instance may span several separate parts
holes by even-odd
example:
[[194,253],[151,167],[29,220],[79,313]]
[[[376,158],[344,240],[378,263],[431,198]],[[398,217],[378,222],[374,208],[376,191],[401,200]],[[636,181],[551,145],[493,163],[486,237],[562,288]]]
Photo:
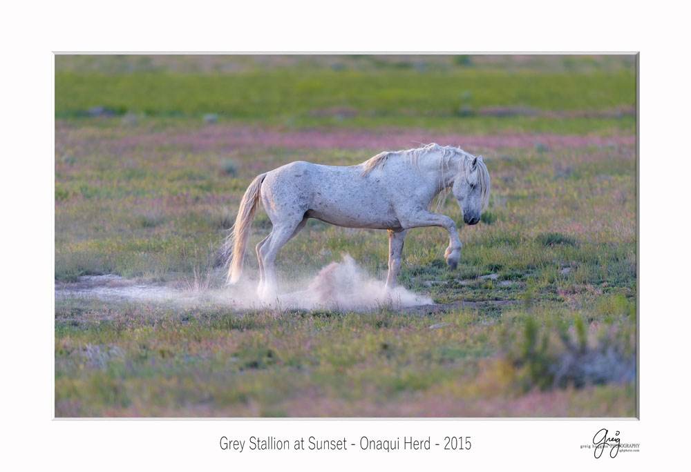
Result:
[[231,249],[231,262],[228,268],[228,283],[234,284],[240,279],[243,273],[243,263],[245,262],[245,250],[247,249],[247,239],[249,239],[249,228],[252,220],[257,213],[261,183],[266,177],[266,173],[254,177],[252,184],[249,184],[243,199],[240,200],[240,209],[235,224],[230,228],[230,234],[226,242],[226,247]]

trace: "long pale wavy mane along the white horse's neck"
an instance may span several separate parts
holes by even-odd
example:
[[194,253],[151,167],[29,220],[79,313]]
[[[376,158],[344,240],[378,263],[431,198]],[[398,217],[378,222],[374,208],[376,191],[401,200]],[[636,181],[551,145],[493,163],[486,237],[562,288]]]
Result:
[[[362,175],[368,175],[370,172],[372,172],[372,170],[384,167],[384,164],[390,157],[406,159],[406,161],[414,168],[419,169],[420,159],[423,159],[431,153],[439,153],[439,155],[441,155],[442,159],[439,159],[439,169],[442,171],[448,169],[448,161],[452,156],[459,155],[464,157],[463,170],[466,173],[470,171],[469,164],[471,160],[475,159],[475,156],[471,155],[470,153],[466,153],[461,148],[456,148],[453,146],[439,146],[439,144],[431,143],[420,148],[384,151],[383,153],[370,157],[370,159],[362,163]],[[480,185],[482,209],[485,210],[489,204],[490,179],[487,166],[484,165],[482,160],[477,161],[477,184]],[[440,197],[437,199],[437,204],[435,205],[435,211],[444,206],[444,203],[446,202],[446,195],[448,195],[449,190],[451,190],[449,187],[441,189]]]

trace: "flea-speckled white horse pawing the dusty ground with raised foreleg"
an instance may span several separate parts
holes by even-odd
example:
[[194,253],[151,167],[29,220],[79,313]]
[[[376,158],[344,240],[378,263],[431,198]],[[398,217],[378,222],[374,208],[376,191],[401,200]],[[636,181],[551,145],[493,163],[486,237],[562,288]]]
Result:
[[[393,288],[401,268],[406,232],[410,228],[439,226],[448,233],[446,262],[456,268],[462,244],[456,224],[430,211],[439,193],[443,202],[451,189],[466,224],[476,224],[489,202],[490,179],[482,156],[451,146],[387,151],[357,166],[321,166],[296,161],[258,175],[249,184],[228,246],[232,248],[228,282],[243,271],[249,229],[261,199],[272,232],[256,246],[259,259],[258,295],[276,297],[274,260],[278,250],[305,227],[307,219],[348,228],[386,229],[389,262],[386,287]],[[443,204],[443,203],[442,203]]]

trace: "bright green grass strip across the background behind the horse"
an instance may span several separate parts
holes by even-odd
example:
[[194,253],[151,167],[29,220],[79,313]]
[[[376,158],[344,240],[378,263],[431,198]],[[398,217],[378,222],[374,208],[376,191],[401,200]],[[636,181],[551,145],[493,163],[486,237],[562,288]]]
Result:
[[261,119],[337,106],[383,117],[405,112],[457,115],[462,104],[472,108],[609,110],[634,106],[636,83],[634,75],[625,72],[579,75],[404,70],[392,74],[278,69],[225,76],[58,72],[55,88],[58,117],[106,106],[120,113],[199,115],[211,111]]

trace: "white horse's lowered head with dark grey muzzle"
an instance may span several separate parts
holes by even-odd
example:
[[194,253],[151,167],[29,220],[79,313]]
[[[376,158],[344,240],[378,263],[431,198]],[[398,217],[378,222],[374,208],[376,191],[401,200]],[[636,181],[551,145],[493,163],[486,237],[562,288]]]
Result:
[[482,211],[489,203],[489,172],[482,156],[468,155],[458,166],[458,174],[453,181],[453,197],[463,211],[465,224],[480,222]]

